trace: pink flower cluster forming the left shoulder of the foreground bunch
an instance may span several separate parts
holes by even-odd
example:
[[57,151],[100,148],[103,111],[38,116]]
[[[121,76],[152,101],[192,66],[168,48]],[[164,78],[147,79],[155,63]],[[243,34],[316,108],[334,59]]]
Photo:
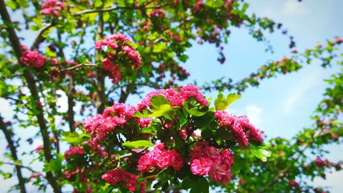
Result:
[[91,147],[97,148],[99,141],[104,140],[108,132],[115,130],[116,126],[126,124],[132,118],[135,111],[136,108],[134,106],[116,103],[106,109],[102,115],[96,115],[84,120],[83,126],[86,132],[91,133]]

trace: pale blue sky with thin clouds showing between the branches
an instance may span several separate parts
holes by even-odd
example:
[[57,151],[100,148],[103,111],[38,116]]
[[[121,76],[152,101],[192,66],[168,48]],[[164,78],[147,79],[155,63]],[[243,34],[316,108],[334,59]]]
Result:
[[[341,0],[303,0],[301,3],[296,0],[250,0],[248,3],[248,12],[268,16],[276,22],[283,23],[283,27],[294,36],[299,52],[314,47],[328,38],[343,36]],[[252,71],[257,71],[268,60],[279,60],[289,54],[289,39],[286,36],[276,32],[268,35],[268,39],[274,48],[273,54],[265,53],[265,44],[255,41],[247,30],[233,29],[228,44],[224,46],[227,58],[224,65],[217,62],[218,54],[213,45],[194,45],[187,50],[189,60],[183,65],[191,73],[189,82],[209,82],[223,76],[233,78],[234,81],[241,80]],[[27,42],[27,45],[30,43]],[[248,115],[252,123],[264,130],[268,137],[281,136],[290,139],[304,126],[311,126],[309,117],[322,100],[322,94],[327,86],[322,80],[337,71],[338,67],[323,69],[314,63],[296,73],[263,80],[258,88],[250,87],[244,91],[241,99],[231,104],[228,111],[237,115]],[[206,97],[215,98],[216,95],[217,92],[206,93]],[[128,103],[137,104],[138,100],[137,97],[130,97]],[[65,99],[60,99],[59,102],[67,105]],[[10,120],[12,110],[1,98],[0,106],[1,115]],[[25,135],[32,132],[26,130],[21,135],[25,138]],[[1,143],[5,143],[3,138],[3,135],[0,135]],[[35,140],[29,150],[34,150],[39,143],[40,141]],[[331,150],[328,158],[331,161],[343,160],[340,152],[342,148],[342,145],[328,146]],[[5,147],[0,146],[1,156],[4,150]],[[27,172],[25,174],[29,175]],[[331,192],[342,192],[342,179],[343,172],[333,172],[327,175],[326,181],[318,178],[314,184],[330,186]],[[9,181],[0,178],[0,184],[4,183],[9,187],[16,183],[16,178]],[[1,188],[0,192],[2,191],[5,192],[5,188]],[[34,189],[31,191],[34,192]]]

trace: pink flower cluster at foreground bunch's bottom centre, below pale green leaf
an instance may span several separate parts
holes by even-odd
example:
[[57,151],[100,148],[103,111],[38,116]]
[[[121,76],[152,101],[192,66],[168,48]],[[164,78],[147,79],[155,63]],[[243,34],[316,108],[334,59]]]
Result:
[[138,161],[138,169],[143,172],[149,172],[152,168],[164,169],[169,166],[174,170],[180,170],[183,167],[183,159],[176,150],[165,150],[165,144],[157,144],[154,150],[142,155]]

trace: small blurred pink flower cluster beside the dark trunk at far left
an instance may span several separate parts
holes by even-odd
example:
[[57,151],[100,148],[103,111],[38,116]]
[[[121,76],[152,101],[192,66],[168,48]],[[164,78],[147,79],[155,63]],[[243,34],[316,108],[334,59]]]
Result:
[[30,51],[29,49],[25,49],[23,53],[21,53],[20,60],[21,63],[28,67],[40,68],[43,67],[44,63],[47,61],[47,58],[40,55],[36,50]]

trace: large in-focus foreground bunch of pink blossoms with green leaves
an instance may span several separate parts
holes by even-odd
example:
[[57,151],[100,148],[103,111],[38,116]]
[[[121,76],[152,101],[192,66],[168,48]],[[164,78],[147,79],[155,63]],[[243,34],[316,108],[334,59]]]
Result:
[[[235,165],[234,155],[239,157],[241,150],[249,150],[248,144],[256,151],[265,146],[247,117],[224,111],[227,101],[237,98],[239,95],[230,94],[226,99],[220,95],[210,108],[198,87],[188,84],[147,93],[137,106],[113,104],[101,115],[84,120],[84,130],[91,135],[82,142],[83,148],[72,146],[64,157],[69,168],[85,171],[96,166],[104,181],[130,192],[138,186],[145,190],[154,180],[178,186],[169,177],[181,173],[185,177],[178,181],[208,177],[213,183],[226,185]],[[123,151],[129,154],[123,155]],[[84,160],[80,165],[80,159],[87,157],[98,164],[89,166]]]

